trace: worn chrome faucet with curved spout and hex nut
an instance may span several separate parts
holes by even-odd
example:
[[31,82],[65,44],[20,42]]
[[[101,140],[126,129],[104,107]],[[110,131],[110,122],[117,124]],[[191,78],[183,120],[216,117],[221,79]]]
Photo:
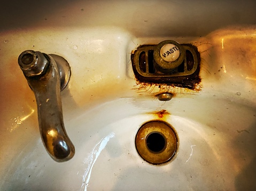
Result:
[[18,63],[33,90],[37,104],[38,124],[46,151],[57,162],[71,159],[75,148],[63,122],[60,91],[68,84],[71,70],[68,62],[55,54],[24,51]]

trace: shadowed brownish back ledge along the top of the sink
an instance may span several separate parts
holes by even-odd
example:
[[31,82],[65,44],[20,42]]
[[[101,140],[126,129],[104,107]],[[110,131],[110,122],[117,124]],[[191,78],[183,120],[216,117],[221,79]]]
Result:
[[256,1],[231,0],[6,1],[0,6],[0,31],[111,26],[137,37],[204,36],[231,25],[255,24],[255,7]]

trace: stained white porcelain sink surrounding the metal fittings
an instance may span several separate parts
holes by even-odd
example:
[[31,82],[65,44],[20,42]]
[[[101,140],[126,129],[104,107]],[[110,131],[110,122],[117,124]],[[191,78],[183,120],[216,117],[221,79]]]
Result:
[[[9,4],[0,13],[0,190],[256,189],[254,1]],[[198,47],[197,90],[136,81],[131,52],[166,39]],[[17,62],[26,49],[71,66],[61,92],[75,146],[67,162],[53,161],[43,146],[35,97]],[[173,98],[159,101],[164,92]],[[164,165],[135,148],[139,127],[151,120],[179,137]]]

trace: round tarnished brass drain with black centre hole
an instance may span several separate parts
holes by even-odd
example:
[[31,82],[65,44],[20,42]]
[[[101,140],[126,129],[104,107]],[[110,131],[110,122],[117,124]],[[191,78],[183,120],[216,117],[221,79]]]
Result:
[[136,139],[138,154],[147,162],[162,164],[177,152],[178,139],[172,126],[164,121],[149,121],[139,128]]

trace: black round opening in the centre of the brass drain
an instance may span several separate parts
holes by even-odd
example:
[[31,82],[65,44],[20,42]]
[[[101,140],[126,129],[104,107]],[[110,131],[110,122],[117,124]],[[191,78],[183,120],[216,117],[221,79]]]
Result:
[[160,152],[165,147],[165,138],[158,132],[152,132],[146,139],[146,145],[150,151]]

